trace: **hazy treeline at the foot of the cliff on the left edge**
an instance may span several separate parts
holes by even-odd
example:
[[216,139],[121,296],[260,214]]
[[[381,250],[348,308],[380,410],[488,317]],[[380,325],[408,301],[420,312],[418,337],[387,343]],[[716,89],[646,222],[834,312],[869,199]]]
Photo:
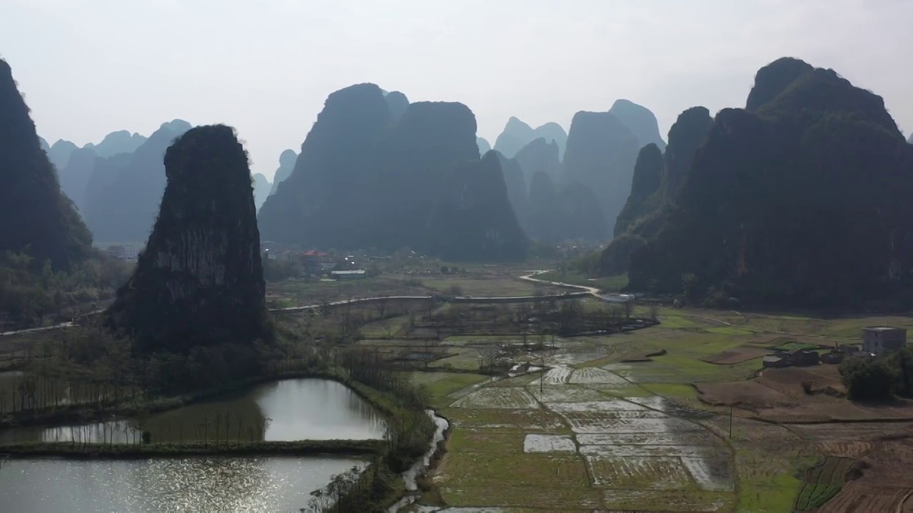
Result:
[[53,316],[71,319],[114,297],[132,266],[98,255],[58,270],[27,252],[0,254],[0,331],[41,326]]

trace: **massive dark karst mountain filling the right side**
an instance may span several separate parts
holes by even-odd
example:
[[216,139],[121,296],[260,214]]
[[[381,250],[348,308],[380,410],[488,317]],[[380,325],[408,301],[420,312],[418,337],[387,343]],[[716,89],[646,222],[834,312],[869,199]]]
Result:
[[908,304],[913,155],[883,100],[781,59],[748,105],[713,121],[676,207],[630,257],[631,288],[679,292],[693,273],[751,303]]

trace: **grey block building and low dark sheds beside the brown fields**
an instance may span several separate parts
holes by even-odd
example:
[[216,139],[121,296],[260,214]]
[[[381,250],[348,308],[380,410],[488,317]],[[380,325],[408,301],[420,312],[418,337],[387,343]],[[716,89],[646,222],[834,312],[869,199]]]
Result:
[[862,329],[862,349],[855,345],[840,344],[825,353],[808,349],[775,351],[765,356],[764,367],[807,367],[818,363],[840,363],[850,356],[874,357],[907,346],[907,330],[888,326],[870,326]]

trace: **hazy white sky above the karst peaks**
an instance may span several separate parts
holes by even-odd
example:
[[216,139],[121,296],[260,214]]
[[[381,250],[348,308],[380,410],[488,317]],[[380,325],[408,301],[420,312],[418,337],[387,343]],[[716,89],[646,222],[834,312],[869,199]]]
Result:
[[913,0],[0,0],[0,55],[38,133],[79,145],[166,120],[224,122],[270,179],[334,90],[461,101],[568,128],[626,98],[742,107],[758,68],[803,58],[913,130]]

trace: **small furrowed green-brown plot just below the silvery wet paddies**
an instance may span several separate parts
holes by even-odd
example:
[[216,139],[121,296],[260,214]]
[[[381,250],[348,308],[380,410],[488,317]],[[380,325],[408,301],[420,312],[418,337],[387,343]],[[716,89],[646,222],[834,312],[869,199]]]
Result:
[[610,457],[587,455],[593,486],[680,490],[691,487],[691,476],[677,457]]

